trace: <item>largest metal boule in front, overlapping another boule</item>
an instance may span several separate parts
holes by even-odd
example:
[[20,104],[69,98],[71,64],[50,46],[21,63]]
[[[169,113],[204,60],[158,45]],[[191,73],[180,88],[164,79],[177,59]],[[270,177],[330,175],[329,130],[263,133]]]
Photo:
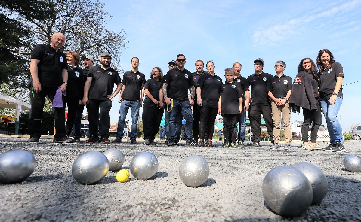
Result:
[[284,217],[304,213],[313,197],[311,183],[305,174],[289,166],[271,169],[263,180],[262,192],[268,206]]

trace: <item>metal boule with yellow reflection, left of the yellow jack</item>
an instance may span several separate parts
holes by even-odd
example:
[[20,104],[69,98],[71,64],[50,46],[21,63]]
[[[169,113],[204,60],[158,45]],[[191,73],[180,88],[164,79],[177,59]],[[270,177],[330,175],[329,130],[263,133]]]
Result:
[[87,151],[78,156],[71,167],[71,174],[81,184],[101,181],[108,173],[109,161],[98,151]]

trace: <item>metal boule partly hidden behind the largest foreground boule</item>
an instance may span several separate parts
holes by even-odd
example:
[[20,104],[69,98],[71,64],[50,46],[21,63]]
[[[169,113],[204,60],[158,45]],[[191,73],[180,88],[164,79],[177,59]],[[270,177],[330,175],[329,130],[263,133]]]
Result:
[[322,170],[316,165],[306,162],[295,163],[291,167],[300,170],[311,183],[313,190],[312,204],[320,203],[329,190],[329,182]]

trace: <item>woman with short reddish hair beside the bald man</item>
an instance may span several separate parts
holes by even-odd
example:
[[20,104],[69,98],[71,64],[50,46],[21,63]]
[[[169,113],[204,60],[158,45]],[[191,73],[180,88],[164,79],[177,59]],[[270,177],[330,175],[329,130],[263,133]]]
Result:
[[[71,128],[73,128],[75,115],[77,114],[77,108],[82,105],[82,98],[84,94],[84,84],[86,77],[83,75],[83,71],[78,67],[80,56],[77,52],[66,52],[66,62],[68,63],[68,86],[66,87],[65,101],[68,105],[68,120],[65,124],[66,137],[69,138]],[[73,139],[72,142],[75,142]]]

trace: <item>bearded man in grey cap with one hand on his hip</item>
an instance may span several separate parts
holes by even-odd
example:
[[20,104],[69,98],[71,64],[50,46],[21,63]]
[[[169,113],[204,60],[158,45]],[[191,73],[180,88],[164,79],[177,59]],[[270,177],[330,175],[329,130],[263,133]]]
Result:
[[[101,65],[90,68],[84,86],[83,104],[87,105],[90,130],[90,138],[85,141],[87,143],[100,142],[100,139],[98,138],[98,129],[99,136],[101,136],[101,142],[110,143],[109,111],[112,108],[111,99],[116,96],[122,88],[120,76],[117,71],[114,71],[110,67],[110,61],[111,57],[109,53],[101,53]],[[117,88],[114,93],[112,93],[114,84],[117,85]]]

